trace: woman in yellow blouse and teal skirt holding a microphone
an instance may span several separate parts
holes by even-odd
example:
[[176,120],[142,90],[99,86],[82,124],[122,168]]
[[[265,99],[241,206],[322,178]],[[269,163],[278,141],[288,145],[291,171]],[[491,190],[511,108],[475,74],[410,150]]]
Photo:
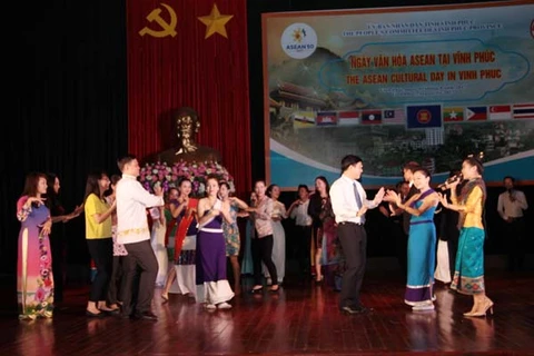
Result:
[[458,251],[451,288],[473,296],[473,308],[464,313],[464,316],[485,316],[487,310],[493,314],[493,301],[486,296],[484,285],[485,231],[482,214],[486,200],[486,185],[482,179],[483,172],[484,168],[478,159],[466,158],[462,164],[462,176],[466,182],[459,197],[456,196],[459,179],[446,185],[451,189],[452,204],[445,196],[439,195],[445,208],[459,212]]

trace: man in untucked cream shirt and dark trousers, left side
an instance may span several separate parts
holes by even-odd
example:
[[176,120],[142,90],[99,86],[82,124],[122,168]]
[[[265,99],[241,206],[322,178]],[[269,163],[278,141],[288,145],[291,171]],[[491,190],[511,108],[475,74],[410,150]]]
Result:
[[[123,244],[128,256],[123,260],[122,276],[122,316],[157,320],[150,310],[154,297],[154,285],[158,274],[158,260],[150,245],[147,208],[162,206],[161,187],[154,187],[156,195],[149,194],[137,180],[139,162],[135,156],[126,156],[117,161],[122,179],[117,184],[117,241]],[[134,289],[134,280],[139,275],[139,290]],[[132,312],[132,294],[137,303]]]

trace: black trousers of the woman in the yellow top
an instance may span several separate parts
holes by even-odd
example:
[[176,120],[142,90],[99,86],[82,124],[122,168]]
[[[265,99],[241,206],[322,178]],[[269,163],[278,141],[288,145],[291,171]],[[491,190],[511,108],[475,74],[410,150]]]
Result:
[[89,301],[106,300],[112,269],[113,241],[111,237],[88,239],[87,246],[95,261],[95,267],[97,268],[97,275],[91,285]]

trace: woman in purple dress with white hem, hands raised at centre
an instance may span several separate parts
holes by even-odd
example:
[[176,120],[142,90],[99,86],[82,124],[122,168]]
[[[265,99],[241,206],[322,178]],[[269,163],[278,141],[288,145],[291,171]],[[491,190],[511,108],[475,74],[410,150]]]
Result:
[[209,177],[206,181],[208,196],[198,201],[197,235],[197,298],[208,310],[229,309],[227,303],[234,297],[226,277],[226,240],[222,219],[231,222],[229,201],[217,198],[219,181]]

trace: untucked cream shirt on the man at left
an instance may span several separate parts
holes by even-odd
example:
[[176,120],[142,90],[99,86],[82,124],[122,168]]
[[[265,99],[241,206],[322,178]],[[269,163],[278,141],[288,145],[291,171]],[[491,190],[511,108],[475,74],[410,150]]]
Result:
[[148,192],[136,177],[122,175],[117,182],[117,241],[135,244],[150,240],[147,208],[164,204],[164,197]]

